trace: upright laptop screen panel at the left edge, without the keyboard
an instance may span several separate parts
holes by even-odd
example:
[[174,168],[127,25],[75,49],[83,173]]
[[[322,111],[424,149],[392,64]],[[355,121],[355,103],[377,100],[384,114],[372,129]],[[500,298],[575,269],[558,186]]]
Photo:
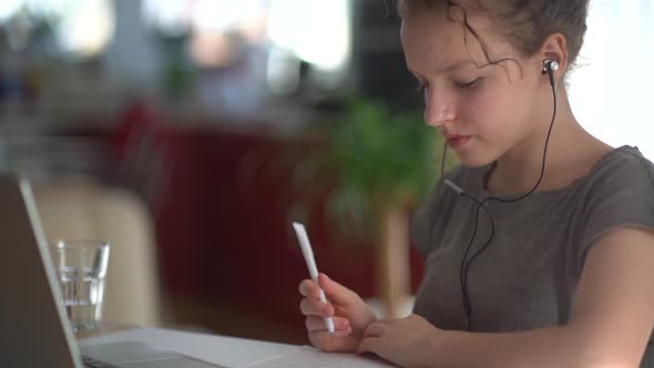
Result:
[[0,174],[3,367],[81,367],[27,180]]

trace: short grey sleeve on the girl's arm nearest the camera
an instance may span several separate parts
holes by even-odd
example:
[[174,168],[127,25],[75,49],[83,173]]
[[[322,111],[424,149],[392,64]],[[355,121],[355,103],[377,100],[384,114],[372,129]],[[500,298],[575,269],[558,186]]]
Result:
[[603,234],[620,227],[654,229],[654,166],[633,147],[619,150],[594,171],[583,198],[581,254]]

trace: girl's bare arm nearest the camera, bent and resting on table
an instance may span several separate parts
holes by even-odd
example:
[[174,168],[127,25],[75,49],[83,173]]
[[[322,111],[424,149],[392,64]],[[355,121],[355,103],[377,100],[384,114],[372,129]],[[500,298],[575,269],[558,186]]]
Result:
[[590,248],[566,326],[443,331],[418,316],[374,323],[358,351],[403,367],[638,367],[654,326],[654,233],[620,228]]

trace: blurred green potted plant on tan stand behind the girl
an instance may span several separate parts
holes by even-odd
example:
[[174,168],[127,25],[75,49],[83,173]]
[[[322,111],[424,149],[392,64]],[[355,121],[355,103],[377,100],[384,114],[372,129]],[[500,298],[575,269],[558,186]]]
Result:
[[444,141],[420,112],[365,96],[350,98],[343,114],[316,125],[309,131],[323,145],[294,171],[294,187],[304,191],[299,203],[306,207],[307,198],[327,193],[328,218],[339,233],[376,239],[380,297],[397,316],[410,293],[410,209],[438,180]]

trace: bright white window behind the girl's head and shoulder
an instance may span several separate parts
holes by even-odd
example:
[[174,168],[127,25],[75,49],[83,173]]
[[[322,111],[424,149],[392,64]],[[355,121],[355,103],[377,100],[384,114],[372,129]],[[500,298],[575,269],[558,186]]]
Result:
[[591,1],[589,31],[570,75],[581,124],[613,145],[636,145],[654,160],[654,1]]

